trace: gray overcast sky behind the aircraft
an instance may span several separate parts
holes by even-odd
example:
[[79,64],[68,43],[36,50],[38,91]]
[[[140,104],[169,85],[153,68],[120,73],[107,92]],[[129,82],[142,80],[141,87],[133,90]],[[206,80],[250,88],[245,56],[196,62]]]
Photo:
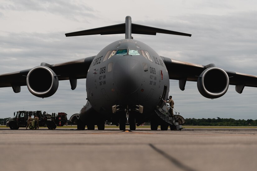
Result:
[[[151,3],[149,3],[151,2]],[[96,55],[120,35],[65,37],[65,33],[125,22],[192,34],[136,35],[159,55],[226,70],[257,75],[257,2],[254,0],[130,0],[63,1],[0,0],[0,74]],[[230,85],[218,99],[207,99],[196,82],[185,90],[170,80],[170,95],[184,118],[257,119],[257,88],[242,94]],[[49,98],[32,95],[26,86],[20,93],[0,88],[0,118],[18,110],[65,112],[68,118],[86,104],[86,79],[75,90],[60,81]]]

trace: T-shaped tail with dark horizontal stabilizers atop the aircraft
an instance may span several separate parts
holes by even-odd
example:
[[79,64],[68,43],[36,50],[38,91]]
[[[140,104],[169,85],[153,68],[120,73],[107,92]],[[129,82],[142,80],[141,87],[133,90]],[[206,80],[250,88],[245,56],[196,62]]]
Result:
[[123,34],[125,33],[126,39],[131,39],[131,33],[133,34],[142,34],[142,35],[156,35],[156,33],[170,34],[170,35],[181,35],[181,36],[189,36],[191,34],[181,33],[177,31],[159,29],[155,27],[149,27],[145,25],[133,24],[131,22],[131,17],[126,16],[125,23],[110,25],[105,27],[99,27],[95,29],[76,31],[72,33],[66,33],[66,37],[68,36],[83,36],[83,35],[113,35],[113,34]]

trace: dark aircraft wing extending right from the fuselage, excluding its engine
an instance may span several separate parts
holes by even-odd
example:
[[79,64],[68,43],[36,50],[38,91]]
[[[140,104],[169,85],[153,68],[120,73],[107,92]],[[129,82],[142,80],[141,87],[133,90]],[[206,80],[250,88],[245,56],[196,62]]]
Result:
[[[161,58],[163,59],[167,67],[167,70],[169,73],[169,79],[179,80],[179,88],[181,90],[184,90],[186,81],[199,82],[198,78],[199,77],[202,78],[203,73],[207,71],[208,68],[217,68],[215,67],[215,64],[209,64],[204,66],[204,65],[190,63],[190,62],[178,61],[167,57],[161,57]],[[239,73],[239,72],[227,71],[223,69],[221,70],[224,71],[224,74],[226,72],[229,85],[236,85],[236,91],[238,93],[242,93],[245,86],[257,87],[257,76]],[[215,80],[215,79],[216,78],[213,78],[213,79],[211,78],[209,80]],[[220,80],[219,78],[217,78],[216,81],[220,81]],[[206,81],[206,82],[211,82],[211,81]],[[199,90],[199,87],[198,87],[198,90]]]

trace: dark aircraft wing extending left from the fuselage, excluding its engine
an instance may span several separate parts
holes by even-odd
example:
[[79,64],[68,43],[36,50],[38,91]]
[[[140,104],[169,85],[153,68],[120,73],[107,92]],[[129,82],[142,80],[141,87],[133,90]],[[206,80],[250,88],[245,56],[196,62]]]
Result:
[[[52,65],[42,62],[40,66],[50,68],[59,80],[81,79],[87,77],[88,68],[94,58],[95,56],[92,56]],[[15,91],[16,87],[27,85],[26,77],[32,69],[0,75],[0,87],[12,87]]]

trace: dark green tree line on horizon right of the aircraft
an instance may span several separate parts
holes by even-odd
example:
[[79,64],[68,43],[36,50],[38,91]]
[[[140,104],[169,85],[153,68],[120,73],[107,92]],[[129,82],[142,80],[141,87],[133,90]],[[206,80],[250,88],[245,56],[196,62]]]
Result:
[[202,119],[195,119],[195,118],[186,118],[186,123],[183,125],[190,125],[190,126],[257,126],[257,120],[253,119],[232,119],[232,118],[202,118]]

